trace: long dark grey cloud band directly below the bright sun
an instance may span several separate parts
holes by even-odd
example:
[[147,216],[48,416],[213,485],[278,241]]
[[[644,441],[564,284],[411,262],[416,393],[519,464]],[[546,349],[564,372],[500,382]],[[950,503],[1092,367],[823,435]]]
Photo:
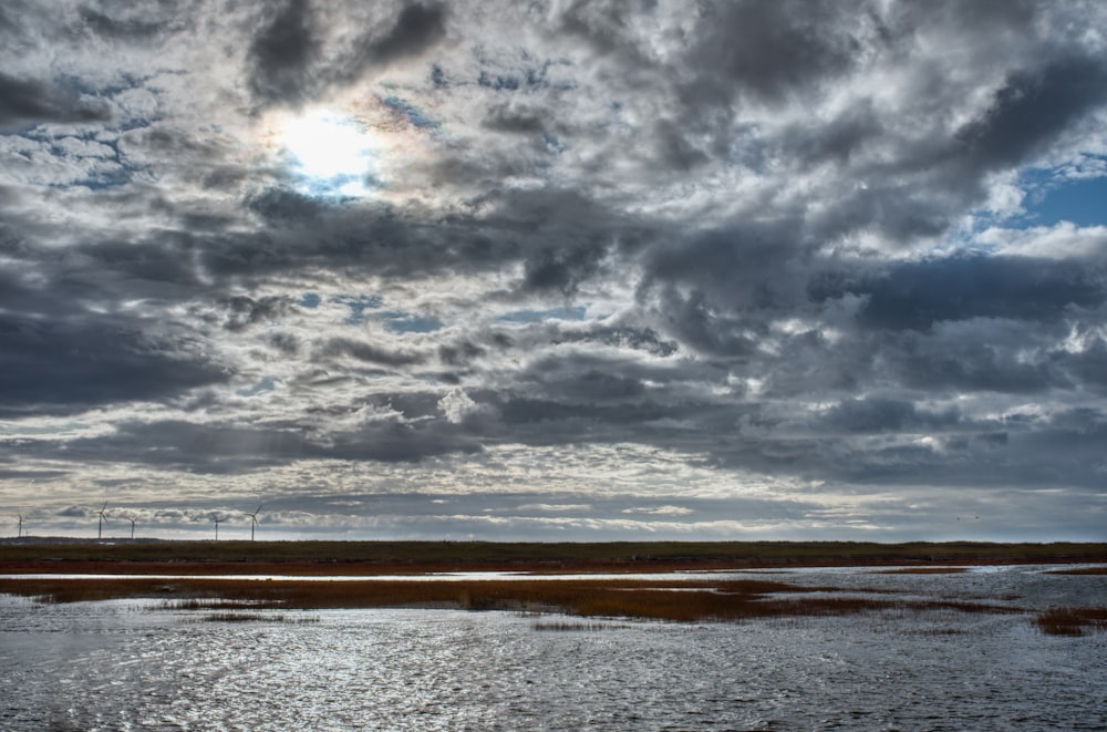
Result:
[[265,224],[245,234],[182,231],[176,248],[195,251],[204,271],[224,279],[263,279],[302,267],[345,268],[389,277],[498,271],[520,262],[519,295],[572,296],[606,271],[615,251],[633,252],[658,235],[577,192],[498,190],[479,216],[437,217],[410,206],[346,205],[283,187],[249,197]]

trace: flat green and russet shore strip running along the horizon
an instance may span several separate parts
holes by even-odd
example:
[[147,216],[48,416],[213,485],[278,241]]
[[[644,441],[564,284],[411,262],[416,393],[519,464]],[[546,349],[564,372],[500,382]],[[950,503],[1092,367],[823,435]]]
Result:
[[74,542],[0,544],[0,574],[365,576],[1107,563],[1107,544],[982,542]]

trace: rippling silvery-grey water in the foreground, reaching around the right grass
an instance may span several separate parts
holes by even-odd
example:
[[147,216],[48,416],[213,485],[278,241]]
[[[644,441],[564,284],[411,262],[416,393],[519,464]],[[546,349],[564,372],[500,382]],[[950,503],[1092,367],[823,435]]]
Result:
[[1105,729],[1107,633],[1047,636],[1031,611],[1107,606],[1107,577],[1046,569],[757,573],[1027,611],[741,623],[441,609],[228,622],[0,596],[0,729]]

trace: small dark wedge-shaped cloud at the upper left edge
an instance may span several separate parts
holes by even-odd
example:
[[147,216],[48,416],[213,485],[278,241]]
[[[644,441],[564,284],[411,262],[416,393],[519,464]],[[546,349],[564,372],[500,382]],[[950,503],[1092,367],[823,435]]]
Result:
[[50,122],[106,122],[111,116],[101,100],[82,96],[75,89],[0,71],[0,130]]

